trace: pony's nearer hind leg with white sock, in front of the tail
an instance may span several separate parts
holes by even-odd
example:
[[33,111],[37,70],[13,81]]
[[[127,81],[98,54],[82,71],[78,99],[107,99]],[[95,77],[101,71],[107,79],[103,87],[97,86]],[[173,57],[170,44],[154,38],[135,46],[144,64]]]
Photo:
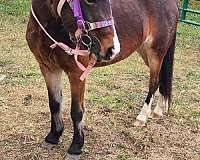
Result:
[[136,118],[136,122],[134,123],[134,126],[139,126],[139,127],[145,126],[148,118],[151,115],[151,106],[153,102],[153,97],[159,85],[159,74],[162,64],[162,56],[160,56],[160,54],[155,52],[153,49],[149,49],[146,52],[146,58],[144,60],[145,63],[150,68],[150,80],[149,80],[149,92],[147,98],[141,109],[140,114]]

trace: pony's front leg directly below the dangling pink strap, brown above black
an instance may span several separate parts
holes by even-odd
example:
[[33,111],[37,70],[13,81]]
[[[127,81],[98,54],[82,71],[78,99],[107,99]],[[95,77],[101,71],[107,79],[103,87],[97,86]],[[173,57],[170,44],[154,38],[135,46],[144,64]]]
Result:
[[84,91],[85,81],[80,81],[80,74],[69,73],[68,74],[70,87],[71,87],[71,118],[73,121],[74,135],[73,141],[68,149],[68,153],[71,155],[80,155],[81,149],[84,145],[84,131],[83,131],[83,114],[84,114]]

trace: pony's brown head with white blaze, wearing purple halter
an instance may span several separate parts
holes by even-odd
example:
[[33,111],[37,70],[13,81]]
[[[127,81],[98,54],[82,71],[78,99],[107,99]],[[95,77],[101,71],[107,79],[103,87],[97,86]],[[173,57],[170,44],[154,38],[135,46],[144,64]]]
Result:
[[65,8],[71,12],[63,7],[60,16],[72,40],[81,41],[99,61],[120,52],[110,0],[71,0],[68,4]]

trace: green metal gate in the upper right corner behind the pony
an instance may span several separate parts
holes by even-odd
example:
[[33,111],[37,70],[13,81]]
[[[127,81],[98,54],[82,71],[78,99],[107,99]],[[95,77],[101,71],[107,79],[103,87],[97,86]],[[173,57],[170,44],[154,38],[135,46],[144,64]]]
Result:
[[[193,0],[197,5],[200,4],[200,0]],[[200,23],[195,22],[194,20],[190,20],[187,18],[187,13],[198,14],[200,15],[199,10],[189,9],[189,0],[183,0],[182,8],[180,8],[180,21],[188,24],[193,24],[196,26],[200,26]]]

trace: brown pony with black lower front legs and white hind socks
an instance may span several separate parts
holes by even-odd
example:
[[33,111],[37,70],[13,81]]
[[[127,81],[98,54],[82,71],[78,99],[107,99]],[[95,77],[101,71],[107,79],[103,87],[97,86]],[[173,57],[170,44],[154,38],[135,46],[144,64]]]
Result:
[[[32,0],[32,8],[49,35],[56,41],[75,48],[76,43],[73,39],[77,39],[78,25],[73,7],[71,8],[66,1],[59,16],[59,2],[60,0]],[[161,117],[168,111],[171,101],[173,57],[179,17],[176,0],[80,0],[80,6],[85,21],[95,22],[114,17],[115,25],[97,28],[87,33],[96,37],[99,42],[96,67],[116,63],[137,51],[150,69],[148,95],[135,125],[144,126],[151,113],[153,116]],[[26,39],[39,63],[49,95],[51,130],[45,142],[58,144],[64,130],[61,115],[61,75],[64,71],[71,87],[71,118],[74,127],[73,141],[68,153],[80,155],[84,145],[82,120],[85,111],[85,80],[80,80],[83,71],[77,66],[72,55],[66,54],[59,47],[49,47],[53,42],[38,25],[32,13]],[[83,45],[80,47],[86,49]],[[118,53],[120,48],[120,53],[113,58],[114,52]],[[79,56],[78,60],[87,66],[91,56],[92,54]],[[160,98],[154,111],[151,111],[157,88]]]

